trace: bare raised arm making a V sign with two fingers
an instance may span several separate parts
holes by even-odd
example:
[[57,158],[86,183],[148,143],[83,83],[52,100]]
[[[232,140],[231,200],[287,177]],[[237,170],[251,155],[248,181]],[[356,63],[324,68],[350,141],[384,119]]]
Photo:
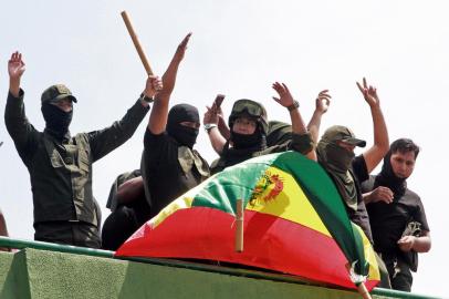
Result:
[[362,92],[366,103],[369,105],[374,126],[374,144],[363,153],[366,168],[370,173],[384,158],[389,148],[388,130],[385,124],[384,114],[380,110],[380,101],[377,95],[376,87],[366,83],[363,79],[363,84],[357,83],[358,90]]

